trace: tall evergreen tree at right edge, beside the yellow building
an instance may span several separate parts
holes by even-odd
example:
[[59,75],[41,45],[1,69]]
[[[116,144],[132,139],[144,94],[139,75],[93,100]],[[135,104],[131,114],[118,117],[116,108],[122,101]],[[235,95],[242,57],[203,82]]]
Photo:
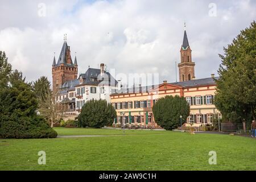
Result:
[[214,104],[232,122],[256,119],[256,24],[242,30],[220,55]]

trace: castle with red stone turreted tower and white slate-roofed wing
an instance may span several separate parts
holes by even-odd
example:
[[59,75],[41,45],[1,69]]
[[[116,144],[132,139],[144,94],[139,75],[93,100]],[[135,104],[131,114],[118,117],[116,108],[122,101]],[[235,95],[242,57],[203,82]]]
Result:
[[100,69],[88,68],[79,77],[77,71],[77,57],[73,63],[71,49],[64,40],[57,64],[53,58],[52,90],[57,93],[56,100],[63,105],[65,114],[79,114],[85,102],[92,99],[110,102],[110,94],[117,89],[118,82],[106,71],[105,64]]

